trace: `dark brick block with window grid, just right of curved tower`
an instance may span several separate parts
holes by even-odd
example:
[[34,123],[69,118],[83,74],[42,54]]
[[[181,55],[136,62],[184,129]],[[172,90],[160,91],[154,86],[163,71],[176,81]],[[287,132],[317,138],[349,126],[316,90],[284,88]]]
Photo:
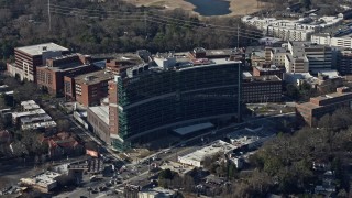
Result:
[[278,102],[282,100],[283,81],[275,75],[244,77],[242,100],[244,103]]

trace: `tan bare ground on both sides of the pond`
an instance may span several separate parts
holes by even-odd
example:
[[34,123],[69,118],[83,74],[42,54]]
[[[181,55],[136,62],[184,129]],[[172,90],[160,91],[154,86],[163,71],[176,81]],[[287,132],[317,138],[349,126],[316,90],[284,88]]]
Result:
[[[165,9],[173,10],[176,8],[182,8],[188,10],[197,15],[198,13],[194,12],[195,6],[186,2],[185,0],[125,0],[135,6],[145,6],[145,7],[164,7]],[[264,3],[257,3],[257,0],[227,0],[230,1],[231,13],[223,16],[238,16],[246,15],[253,12],[256,12],[264,8]]]

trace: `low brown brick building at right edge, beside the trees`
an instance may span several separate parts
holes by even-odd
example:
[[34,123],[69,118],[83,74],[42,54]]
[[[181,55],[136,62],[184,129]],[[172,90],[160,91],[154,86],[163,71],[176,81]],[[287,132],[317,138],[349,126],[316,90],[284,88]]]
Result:
[[316,127],[322,116],[339,108],[352,108],[352,92],[349,92],[348,87],[340,87],[337,88],[337,92],[310,98],[309,102],[297,103],[296,113],[299,122]]

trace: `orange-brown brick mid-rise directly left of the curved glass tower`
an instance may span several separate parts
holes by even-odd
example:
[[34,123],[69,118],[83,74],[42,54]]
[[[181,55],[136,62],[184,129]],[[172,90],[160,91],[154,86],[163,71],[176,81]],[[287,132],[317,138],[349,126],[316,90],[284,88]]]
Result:
[[100,100],[108,97],[108,81],[113,78],[113,74],[106,70],[98,70],[79,76],[66,76],[65,98],[70,101],[89,107],[99,105]]

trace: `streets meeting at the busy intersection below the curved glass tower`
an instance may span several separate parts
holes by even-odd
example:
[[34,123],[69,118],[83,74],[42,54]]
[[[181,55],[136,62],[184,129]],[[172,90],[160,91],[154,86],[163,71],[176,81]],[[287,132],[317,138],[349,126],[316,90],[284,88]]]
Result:
[[[148,155],[144,158],[141,158],[140,161],[134,161],[130,164],[125,164],[122,169],[116,170],[116,177],[121,179],[121,184],[116,185],[111,190],[114,188],[121,187],[124,184],[129,183],[139,183],[139,182],[150,182],[150,167],[153,163],[162,163],[163,161],[177,161],[177,156],[186,155],[188,153],[195,152],[196,150],[200,148],[206,142],[212,142],[215,140],[219,140],[226,136],[226,134],[231,133],[235,130],[239,130],[241,128],[244,128],[249,123],[256,123],[256,124],[263,124],[266,123],[268,127],[275,124],[275,121],[272,119],[275,118],[284,118],[286,116],[293,116],[294,112],[289,113],[283,113],[283,114],[275,114],[275,116],[268,116],[263,118],[248,118],[245,122],[242,123],[234,123],[221,129],[217,129],[215,131],[209,131],[207,133],[194,136],[191,139],[188,139],[186,141],[179,142],[176,145],[173,145],[168,148],[161,150],[152,155]],[[76,133],[80,136],[89,136],[89,139],[96,141],[100,146],[103,146],[107,148],[107,154],[113,157],[116,161],[121,161],[120,157],[110,148],[107,147],[100,140],[96,139],[89,131],[84,129],[80,124],[78,124],[72,116],[67,116],[67,118],[70,120],[70,122],[74,124],[73,129],[76,131]],[[119,167],[117,167],[119,168]],[[120,172],[121,170],[121,172]],[[107,182],[111,180],[110,177],[105,177],[102,180],[97,183],[88,183],[85,184],[80,188],[76,188],[74,191],[64,193],[61,194],[57,197],[79,197],[79,196],[86,196],[86,197],[108,197],[107,191],[99,193],[99,194],[89,194],[87,190],[87,187],[98,186],[102,185]]]

